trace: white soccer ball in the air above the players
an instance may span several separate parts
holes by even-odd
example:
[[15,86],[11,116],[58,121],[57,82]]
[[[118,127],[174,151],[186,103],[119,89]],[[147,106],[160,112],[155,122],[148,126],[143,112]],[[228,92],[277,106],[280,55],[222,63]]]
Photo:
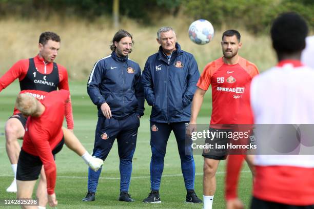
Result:
[[198,19],[189,27],[189,37],[199,45],[208,44],[214,35],[214,29],[206,19]]

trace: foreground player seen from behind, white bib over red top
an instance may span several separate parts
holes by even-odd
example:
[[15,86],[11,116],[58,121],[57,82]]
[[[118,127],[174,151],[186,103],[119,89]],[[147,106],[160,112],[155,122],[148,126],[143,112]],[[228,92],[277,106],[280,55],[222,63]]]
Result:
[[[307,33],[297,13],[273,20],[270,35],[278,64],[247,84],[241,107],[247,114],[238,116],[239,123],[314,124],[314,70],[300,61]],[[270,140],[276,144],[278,138]],[[254,158],[251,208],[314,208],[314,156],[262,154]]]

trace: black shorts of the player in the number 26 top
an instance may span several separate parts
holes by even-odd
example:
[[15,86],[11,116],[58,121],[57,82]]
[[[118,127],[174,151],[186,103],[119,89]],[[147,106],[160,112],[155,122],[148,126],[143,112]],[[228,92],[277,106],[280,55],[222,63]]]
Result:
[[216,133],[216,135],[212,139],[205,139],[205,144],[211,144],[212,149],[204,149],[202,156],[214,160],[225,160],[228,156],[227,143],[230,141],[225,135],[228,135],[227,133],[231,131],[229,129],[209,128],[209,132]]

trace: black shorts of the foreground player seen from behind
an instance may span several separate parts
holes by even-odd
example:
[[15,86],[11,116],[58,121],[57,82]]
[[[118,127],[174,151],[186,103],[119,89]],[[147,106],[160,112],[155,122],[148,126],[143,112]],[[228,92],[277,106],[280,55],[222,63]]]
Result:
[[298,206],[252,198],[251,209],[314,209],[314,205]]

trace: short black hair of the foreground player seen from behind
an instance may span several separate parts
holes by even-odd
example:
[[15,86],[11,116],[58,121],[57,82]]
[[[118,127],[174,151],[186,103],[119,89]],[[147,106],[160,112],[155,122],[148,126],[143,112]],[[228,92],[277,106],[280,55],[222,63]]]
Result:
[[308,27],[303,17],[295,12],[282,13],[271,25],[272,47],[277,53],[302,51],[307,33]]

